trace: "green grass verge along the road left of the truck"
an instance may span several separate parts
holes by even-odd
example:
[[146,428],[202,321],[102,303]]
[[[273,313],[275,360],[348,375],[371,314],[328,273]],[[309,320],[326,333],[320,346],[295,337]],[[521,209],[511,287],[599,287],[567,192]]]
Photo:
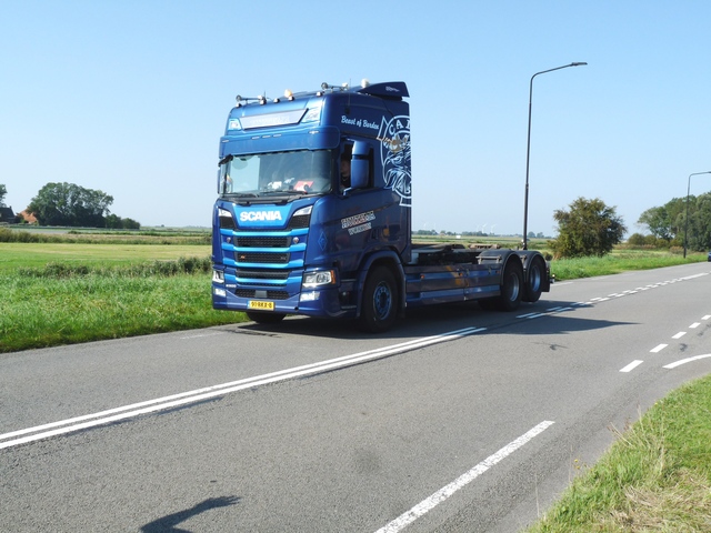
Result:
[[246,320],[214,311],[209,259],[0,273],[0,353]]

